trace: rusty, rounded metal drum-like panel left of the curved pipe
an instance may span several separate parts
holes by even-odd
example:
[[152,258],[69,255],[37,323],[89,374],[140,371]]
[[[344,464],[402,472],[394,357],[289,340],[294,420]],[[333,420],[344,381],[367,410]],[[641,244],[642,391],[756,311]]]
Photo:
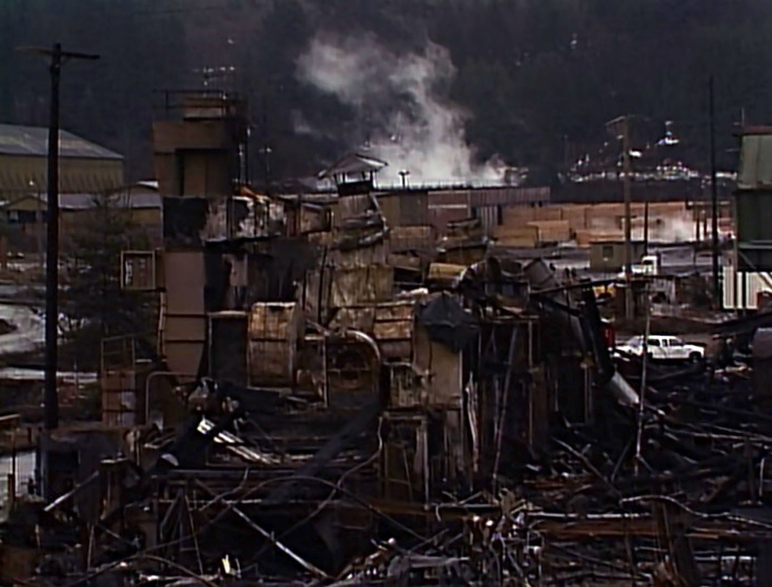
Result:
[[293,385],[303,313],[295,302],[258,302],[249,313],[249,382]]

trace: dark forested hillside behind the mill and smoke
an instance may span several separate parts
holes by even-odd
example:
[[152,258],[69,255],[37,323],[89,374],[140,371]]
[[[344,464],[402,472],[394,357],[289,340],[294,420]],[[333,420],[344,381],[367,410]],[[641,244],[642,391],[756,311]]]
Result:
[[0,121],[46,124],[45,64],[14,47],[59,40],[102,55],[66,65],[63,126],[134,178],[154,90],[206,78],[249,97],[252,165],[268,143],[275,178],[371,144],[547,181],[619,114],[674,121],[704,165],[713,73],[726,166],[743,113],[772,121],[770,39],[769,0],[0,0]]

